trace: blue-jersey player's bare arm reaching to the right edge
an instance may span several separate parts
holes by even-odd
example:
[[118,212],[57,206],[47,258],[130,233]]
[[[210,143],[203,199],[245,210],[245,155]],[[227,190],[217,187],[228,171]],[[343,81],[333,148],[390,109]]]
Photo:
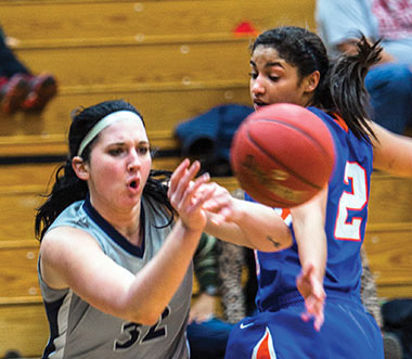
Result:
[[394,176],[412,177],[412,138],[388,131],[371,123],[377,141],[373,143],[373,167]]

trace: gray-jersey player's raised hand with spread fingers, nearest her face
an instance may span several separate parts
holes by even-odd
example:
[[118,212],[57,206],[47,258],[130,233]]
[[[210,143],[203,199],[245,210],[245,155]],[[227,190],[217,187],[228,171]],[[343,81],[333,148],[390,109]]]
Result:
[[184,159],[171,175],[167,193],[170,204],[178,211],[183,226],[195,231],[203,230],[206,225],[207,216],[202,206],[214,192],[213,188],[206,188],[202,192],[197,191],[210,179],[208,174],[195,179],[201,164],[197,161],[191,165],[189,159]]

